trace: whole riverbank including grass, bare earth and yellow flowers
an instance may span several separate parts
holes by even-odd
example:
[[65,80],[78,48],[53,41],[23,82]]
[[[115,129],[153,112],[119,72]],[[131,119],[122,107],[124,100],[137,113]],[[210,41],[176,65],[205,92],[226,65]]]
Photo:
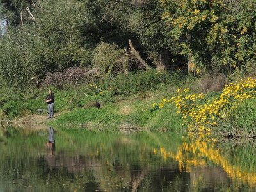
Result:
[[[51,120],[47,119],[42,102],[47,88],[30,90],[23,97],[15,95],[2,104],[2,119],[10,119],[14,124],[81,127],[93,131],[186,129],[199,137],[214,133],[255,138],[255,79],[229,83],[217,92],[202,90],[200,85],[205,82],[198,77],[164,74],[166,79],[157,79],[163,74],[143,73],[124,76],[126,79],[108,79],[102,84],[55,88],[56,118]],[[146,80],[149,83],[143,84]],[[216,86],[214,81],[211,84]]]

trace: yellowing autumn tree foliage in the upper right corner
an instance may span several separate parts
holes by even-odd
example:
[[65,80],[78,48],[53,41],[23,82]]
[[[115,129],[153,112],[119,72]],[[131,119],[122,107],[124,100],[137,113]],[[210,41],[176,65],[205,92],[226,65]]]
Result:
[[255,1],[163,0],[166,28],[196,67],[227,74],[255,61]]

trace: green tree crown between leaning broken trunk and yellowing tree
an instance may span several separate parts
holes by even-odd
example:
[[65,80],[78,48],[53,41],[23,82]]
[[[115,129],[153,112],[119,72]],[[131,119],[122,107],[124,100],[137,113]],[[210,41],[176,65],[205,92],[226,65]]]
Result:
[[102,19],[120,28],[123,45],[128,46],[127,39],[131,38],[142,56],[159,69],[184,64],[183,57],[177,54],[177,47],[164,30],[163,8],[159,1],[108,1],[106,7]]

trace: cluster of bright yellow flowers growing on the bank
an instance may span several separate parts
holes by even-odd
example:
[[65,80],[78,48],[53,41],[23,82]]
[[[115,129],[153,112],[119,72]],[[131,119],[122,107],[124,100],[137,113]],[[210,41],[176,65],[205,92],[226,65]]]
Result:
[[171,99],[163,97],[154,108],[163,108],[165,104],[174,103],[177,113],[182,114],[189,124],[189,131],[197,132],[204,137],[211,134],[210,127],[216,126],[225,109],[232,107],[235,102],[256,97],[256,79],[248,78],[239,83],[230,83],[225,86],[219,96],[209,100],[204,94],[191,94],[189,89],[177,90],[177,96]]

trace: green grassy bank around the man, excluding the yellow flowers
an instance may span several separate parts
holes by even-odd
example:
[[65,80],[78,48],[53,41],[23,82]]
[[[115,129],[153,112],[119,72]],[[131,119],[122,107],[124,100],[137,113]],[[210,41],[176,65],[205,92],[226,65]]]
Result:
[[[47,124],[86,127],[97,130],[150,129],[159,131],[182,130],[182,119],[174,105],[161,111],[152,110],[152,104],[162,95],[173,95],[179,87],[196,90],[195,77],[176,73],[131,72],[127,76],[105,77],[97,82],[53,88],[56,101],[53,120]],[[47,118],[46,104],[42,101],[48,88],[4,94],[1,98],[1,116],[19,119],[28,115]],[[95,107],[100,103],[100,109]],[[38,112],[38,109],[45,109]]]

